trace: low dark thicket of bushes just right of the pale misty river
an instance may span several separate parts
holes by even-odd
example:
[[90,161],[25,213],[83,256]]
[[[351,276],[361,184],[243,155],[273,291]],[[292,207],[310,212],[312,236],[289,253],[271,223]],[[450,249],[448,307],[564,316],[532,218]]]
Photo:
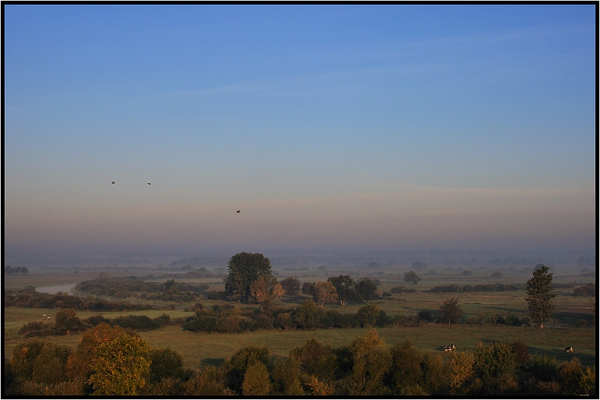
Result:
[[76,291],[96,296],[111,296],[118,299],[139,297],[140,299],[161,301],[195,301],[201,292],[209,289],[207,284],[185,284],[170,279],[166,282],[147,282],[135,276],[126,278],[100,278],[81,281],[75,286]]

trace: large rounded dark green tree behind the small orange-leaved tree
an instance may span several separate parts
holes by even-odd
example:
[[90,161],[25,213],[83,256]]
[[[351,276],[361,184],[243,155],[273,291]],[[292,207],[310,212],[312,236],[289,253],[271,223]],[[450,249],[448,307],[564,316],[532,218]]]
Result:
[[250,286],[264,276],[271,282],[271,261],[260,253],[238,253],[227,263],[229,275],[225,281],[225,296],[229,300],[248,302]]

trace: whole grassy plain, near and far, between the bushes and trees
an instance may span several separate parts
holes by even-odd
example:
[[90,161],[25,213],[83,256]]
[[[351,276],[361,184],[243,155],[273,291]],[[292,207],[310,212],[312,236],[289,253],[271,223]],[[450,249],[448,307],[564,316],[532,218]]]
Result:
[[[276,270],[276,268],[274,268]],[[532,271],[533,269],[531,269]],[[414,315],[419,311],[436,311],[441,302],[449,297],[455,296],[459,299],[459,304],[464,313],[464,319],[474,318],[479,315],[489,316],[496,314],[506,316],[508,313],[515,314],[522,319],[526,316],[526,303],[524,301],[525,291],[503,291],[503,292],[475,292],[461,294],[438,294],[429,293],[427,290],[436,285],[448,284],[524,284],[531,277],[531,272],[502,270],[503,275],[499,279],[491,278],[491,274],[496,269],[474,269],[468,276],[458,269],[441,269],[435,274],[428,274],[427,271],[416,271],[421,277],[419,284],[408,284],[404,282],[404,273],[409,268],[381,268],[374,273],[366,269],[331,269],[331,270],[311,270],[311,271],[279,271],[278,278],[283,279],[286,276],[296,276],[301,282],[305,281],[325,281],[329,276],[339,276],[341,274],[350,274],[355,280],[361,276],[368,276],[371,279],[379,279],[381,285],[379,293],[389,291],[394,286],[403,286],[406,289],[416,289],[415,293],[392,294],[388,299],[375,301],[381,309],[388,314],[403,314],[404,316]],[[22,276],[5,276],[5,290],[19,290],[25,286],[34,287],[53,286],[59,284],[70,284],[76,281],[94,279],[98,275],[98,270],[79,269],[77,274],[74,271],[32,271],[30,274]],[[111,276],[146,276],[147,274],[156,274],[156,270],[131,271],[119,270],[110,271]],[[186,283],[207,283],[209,290],[223,290],[221,279],[176,279],[176,281],[185,281]],[[582,278],[578,271],[560,271],[554,274],[554,282],[584,284],[588,281],[594,281],[594,277]],[[491,324],[424,324],[421,326],[398,326],[377,328],[379,336],[384,338],[388,346],[404,341],[409,338],[416,347],[422,351],[431,351],[449,357],[449,354],[441,351],[442,346],[447,344],[456,344],[458,351],[472,351],[476,342],[482,341],[489,343],[493,341],[502,341],[511,343],[512,341],[524,341],[529,346],[531,354],[547,354],[563,361],[576,356],[584,365],[594,365],[596,363],[596,329],[595,329],[595,298],[574,297],[571,295],[572,289],[556,289],[559,294],[554,299],[556,310],[554,319],[544,324],[544,329],[526,326],[506,326]],[[296,306],[306,299],[306,296],[299,295],[294,298],[284,297],[274,301],[275,306],[284,306],[286,308]],[[125,299],[127,301],[131,299]],[[213,304],[224,304],[224,301],[201,301],[205,308]],[[257,306],[254,304],[230,303],[235,306]],[[184,311],[191,304],[156,304],[164,309],[146,310],[146,311],[127,311],[127,312],[101,312],[96,311],[78,311],[77,316],[80,319],[92,315],[102,314],[108,318],[126,315],[147,315],[151,318],[161,314],[169,314],[171,319],[176,317],[191,316],[194,313]],[[336,309],[340,312],[356,312],[363,304],[347,304],[341,306],[339,303],[326,304],[328,309]],[[21,309],[8,307],[4,309],[4,358],[10,358],[14,346],[22,339],[18,334],[19,328],[29,321],[46,319],[43,314],[50,316],[51,319],[56,315],[56,309]],[[591,322],[587,328],[573,327],[576,321],[587,319]],[[169,346],[178,351],[184,357],[186,367],[198,366],[200,363],[221,364],[224,359],[242,346],[259,345],[267,346],[272,356],[287,356],[289,350],[301,346],[307,339],[316,338],[325,344],[334,347],[350,344],[358,336],[365,334],[367,329],[317,329],[313,331],[277,331],[265,330],[245,332],[241,334],[207,334],[184,331],[181,326],[164,326],[154,331],[139,332],[139,336],[146,340],[152,348],[164,348]],[[66,344],[71,347],[77,346],[81,334],[71,334],[66,336],[46,336],[44,339]],[[566,354],[563,352],[566,346],[574,346],[574,353]]]

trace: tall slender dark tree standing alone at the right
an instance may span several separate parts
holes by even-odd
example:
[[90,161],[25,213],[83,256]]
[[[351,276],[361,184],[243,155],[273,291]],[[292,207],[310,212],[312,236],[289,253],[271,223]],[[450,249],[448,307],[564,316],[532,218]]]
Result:
[[544,328],[544,322],[549,321],[554,312],[552,299],[556,296],[552,293],[552,273],[548,272],[548,267],[544,264],[538,264],[534,271],[534,276],[527,281],[525,292],[527,297],[527,314],[529,319],[540,328]]

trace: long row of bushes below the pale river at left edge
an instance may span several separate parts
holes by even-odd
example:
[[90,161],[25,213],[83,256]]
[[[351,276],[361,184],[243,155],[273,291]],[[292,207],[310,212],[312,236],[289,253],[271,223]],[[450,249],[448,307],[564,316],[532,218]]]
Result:
[[17,293],[4,295],[5,307],[26,309],[74,309],[79,311],[133,311],[154,309],[149,304],[134,304],[129,301],[109,301],[94,296],[82,298],[64,292],[55,294],[38,293],[34,286],[26,286]]

